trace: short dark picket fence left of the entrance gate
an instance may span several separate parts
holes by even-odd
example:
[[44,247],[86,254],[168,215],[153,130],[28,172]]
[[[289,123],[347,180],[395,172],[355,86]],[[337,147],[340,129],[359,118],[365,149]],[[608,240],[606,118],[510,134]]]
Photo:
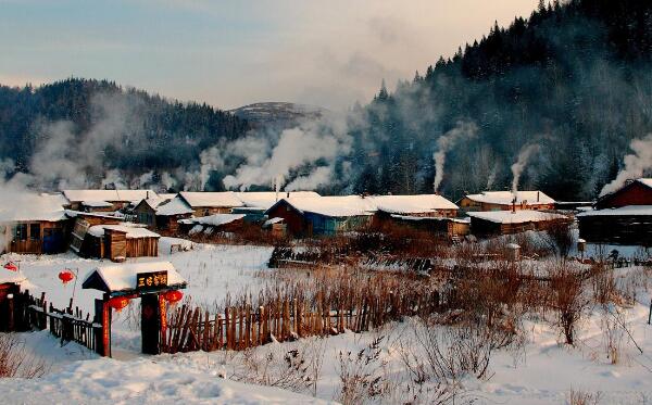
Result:
[[61,339],[62,345],[73,341],[101,353],[102,326],[95,324],[90,314],[84,315],[78,307],[73,309],[72,306],[58,309],[46,301],[45,292],[40,299],[29,295],[29,291],[23,294],[25,305],[22,316],[26,325],[38,330],[49,329],[50,333]]

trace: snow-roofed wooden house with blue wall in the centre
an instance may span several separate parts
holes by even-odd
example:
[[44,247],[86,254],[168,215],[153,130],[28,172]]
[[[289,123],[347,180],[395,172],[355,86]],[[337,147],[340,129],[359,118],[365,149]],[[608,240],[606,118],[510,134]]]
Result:
[[296,237],[334,236],[372,225],[376,205],[372,198],[359,195],[289,198],[265,212],[283,218],[287,231]]

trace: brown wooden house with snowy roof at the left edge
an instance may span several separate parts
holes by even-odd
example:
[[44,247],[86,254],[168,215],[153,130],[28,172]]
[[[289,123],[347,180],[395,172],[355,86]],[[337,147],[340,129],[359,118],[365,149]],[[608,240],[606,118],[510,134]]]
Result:
[[9,243],[4,252],[61,253],[66,249],[70,220],[61,200],[52,194],[25,194],[15,207],[0,212],[0,233]]

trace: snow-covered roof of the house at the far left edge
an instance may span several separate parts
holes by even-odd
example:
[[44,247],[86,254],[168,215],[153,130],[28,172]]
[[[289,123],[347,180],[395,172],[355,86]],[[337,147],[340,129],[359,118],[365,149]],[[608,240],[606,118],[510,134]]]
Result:
[[3,195],[4,204],[0,204],[0,222],[66,219],[61,205],[61,197],[57,194],[11,193]]

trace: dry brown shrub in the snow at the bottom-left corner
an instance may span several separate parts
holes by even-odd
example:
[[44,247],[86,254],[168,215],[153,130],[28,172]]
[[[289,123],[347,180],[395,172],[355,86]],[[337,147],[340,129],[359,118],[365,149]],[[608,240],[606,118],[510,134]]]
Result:
[[38,378],[49,366],[27,352],[25,342],[13,333],[0,333],[0,378]]

